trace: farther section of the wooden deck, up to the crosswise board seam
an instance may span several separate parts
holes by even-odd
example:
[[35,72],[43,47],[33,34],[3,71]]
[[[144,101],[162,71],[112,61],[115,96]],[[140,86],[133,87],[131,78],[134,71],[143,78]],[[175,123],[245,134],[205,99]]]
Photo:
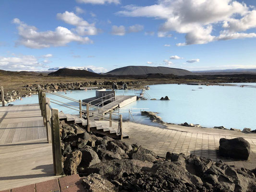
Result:
[[38,104],[0,107],[0,144],[47,138]]

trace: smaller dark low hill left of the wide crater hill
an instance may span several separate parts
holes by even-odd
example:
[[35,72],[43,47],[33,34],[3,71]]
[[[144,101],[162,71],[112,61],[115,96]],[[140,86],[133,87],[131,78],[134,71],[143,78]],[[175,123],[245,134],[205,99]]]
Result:
[[59,69],[56,72],[51,72],[48,75],[50,76],[73,76],[73,77],[102,77],[103,75],[100,75],[95,72],[88,72],[86,70],[73,70],[73,69]]

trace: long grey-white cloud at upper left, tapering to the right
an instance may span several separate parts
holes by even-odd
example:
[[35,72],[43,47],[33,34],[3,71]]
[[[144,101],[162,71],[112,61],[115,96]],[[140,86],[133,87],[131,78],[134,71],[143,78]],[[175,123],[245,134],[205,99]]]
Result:
[[35,26],[27,25],[17,18],[13,19],[13,23],[18,25],[19,40],[17,44],[28,48],[59,47],[73,41],[82,44],[93,43],[88,37],[76,35],[65,27],[58,26],[55,31],[38,32]]

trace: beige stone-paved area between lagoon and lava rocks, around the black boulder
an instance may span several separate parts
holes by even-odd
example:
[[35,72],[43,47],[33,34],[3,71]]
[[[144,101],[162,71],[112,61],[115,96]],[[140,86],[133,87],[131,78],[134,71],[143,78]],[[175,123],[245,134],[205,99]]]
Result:
[[[177,125],[169,125],[167,129],[133,122],[124,122],[123,131],[130,135],[130,138],[124,141],[142,145],[159,156],[165,157],[168,151],[178,154],[184,153],[187,156],[195,154],[210,158],[213,161],[222,160],[228,165],[235,165],[238,168],[256,168],[256,133],[245,134],[237,131],[186,128]],[[219,139],[236,137],[243,137],[251,145],[251,153],[247,161],[237,161],[218,156]]]

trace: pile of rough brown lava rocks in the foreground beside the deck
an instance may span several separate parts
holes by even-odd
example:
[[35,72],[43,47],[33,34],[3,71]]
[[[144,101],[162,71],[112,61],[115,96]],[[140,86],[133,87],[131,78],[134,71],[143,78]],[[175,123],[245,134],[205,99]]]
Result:
[[78,173],[90,192],[254,192],[256,169],[167,152],[86,132],[60,121],[62,167]]

